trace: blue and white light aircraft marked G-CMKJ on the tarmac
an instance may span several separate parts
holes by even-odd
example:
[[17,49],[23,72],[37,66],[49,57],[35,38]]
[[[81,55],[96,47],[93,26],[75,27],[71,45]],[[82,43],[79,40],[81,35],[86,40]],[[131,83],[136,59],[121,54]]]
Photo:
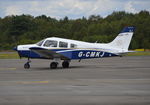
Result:
[[30,68],[30,58],[51,59],[51,69],[56,69],[61,60],[68,68],[71,60],[122,56],[128,51],[134,27],[125,27],[110,43],[89,43],[58,37],[46,38],[36,44],[18,45],[14,48],[20,57],[27,57],[25,69]]

